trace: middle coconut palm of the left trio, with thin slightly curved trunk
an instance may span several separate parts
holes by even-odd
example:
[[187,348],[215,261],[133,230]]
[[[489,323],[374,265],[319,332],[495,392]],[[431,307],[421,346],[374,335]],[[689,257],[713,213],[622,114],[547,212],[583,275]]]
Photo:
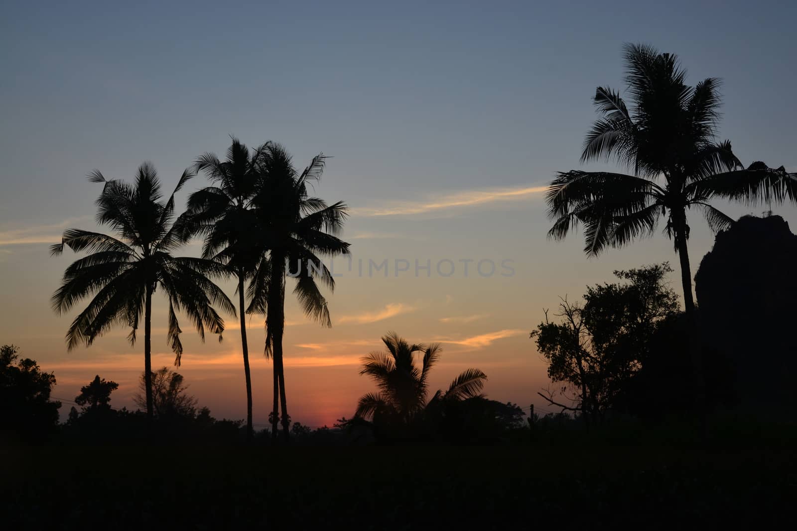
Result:
[[246,432],[253,435],[252,428],[252,375],[249,371],[249,345],[246,341],[245,282],[257,267],[257,234],[252,198],[257,183],[254,167],[255,157],[249,148],[233,138],[227,150],[226,161],[221,162],[215,154],[206,153],[198,158],[196,171],[204,171],[212,183],[188,197],[187,213],[191,223],[187,225],[186,239],[190,236],[205,236],[202,257],[226,264],[238,279],[238,310],[241,318],[241,350],[244,359],[246,381]]

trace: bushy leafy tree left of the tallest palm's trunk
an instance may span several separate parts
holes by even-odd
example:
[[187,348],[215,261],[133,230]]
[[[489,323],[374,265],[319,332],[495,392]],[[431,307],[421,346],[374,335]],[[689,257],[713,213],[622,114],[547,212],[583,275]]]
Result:
[[669,264],[614,271],[628,283],[587,287],[583,306],[563,299],[556,314],[531,334],[548,361],[548,377],[571,392],[572,405],[540,394],[551,404],[600,420],[649,357],[658,325],[677,314],[677,295],[665,286]]

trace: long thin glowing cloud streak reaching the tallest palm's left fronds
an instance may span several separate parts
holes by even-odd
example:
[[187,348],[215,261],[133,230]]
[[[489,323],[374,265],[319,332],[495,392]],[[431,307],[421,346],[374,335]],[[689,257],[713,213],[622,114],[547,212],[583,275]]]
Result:
[[548,191],[548,186],[524,186],[486,190],[463,190],[431,197],[426,201],[402,201],[376,208],[355,208],[351,213],[358,216],[408,216],[439,212],[458,207],[487,205],[499,201],[517,201]]

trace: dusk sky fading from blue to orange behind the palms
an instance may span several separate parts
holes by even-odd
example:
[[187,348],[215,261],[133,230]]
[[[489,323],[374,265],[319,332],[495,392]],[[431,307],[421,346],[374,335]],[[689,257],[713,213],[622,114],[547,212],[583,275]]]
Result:
[[[120,383],[112,404],[129,407],[143,370],[143,344],[131,348],[124,329],[68,353],[73,316],[49,307],[76,256],[51,258],[48,244],[64,228],[94,228],[100,189],[84,176],[95,168],[129,179],[150,160],[171,188],[198,154],[223,154],[231,134],[250,146],[284,143],[297,166],[320,151],[334,157],[316,192],[351,206],[344,239],[354,267],[335,264],[332,329],[308,322],[293,301],[286,309],[289,412],[311,426],[351,416],[371,390],[358,359],[388,330],[442,342],[434,386],[476,366],[491,398],[544,407],[536,392],[548,385],[545,365],[528,339],[542,308],[559,295],[580,298],[614,269],[677,266],[661,235],[598,259],[583,255],[580,234],[545,236],[541,190],[555,171],[579,167],[595,86],[622,88],[623,42],[677,53],[690,84],[723,78],[720,138],[745,164],[797,170],[797,5],[785,2],[0,6],[0,344],[53,371],[61,398],[99,373]],[[734,217],[765,209],[718,206]],[[774,210],[795,227],[795,207]],[[692,227],[694,271],[713,236],[698,216]],[[387,278],[369,277],[368,260],[385,259]],[[396,277],[396,259],[410,271]],[[416,259],[431,260],[430,277],[414,275]],[[456,267],[449,277],[434,271],[444,259]],[[478,260],[493,260],[496,273],[478,275]],[[501,275],[501,260],[512,260],[514,275]],[[171,365],[166,307],[155,301],[153,364]],[[229,321],[221,344],[183,326],[180,372],[214,416],[240,419],[240,338]],[[255,422],[265,424],[271,365],[260,355],[261,319],[249,328]]]

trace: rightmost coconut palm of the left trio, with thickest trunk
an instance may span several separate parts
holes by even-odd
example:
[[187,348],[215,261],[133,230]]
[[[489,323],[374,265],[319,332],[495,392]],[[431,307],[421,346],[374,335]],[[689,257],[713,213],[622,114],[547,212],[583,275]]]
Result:
[[274,361],[272,434],[277,435],[281,404],[286,439],[290,425],[282,349],[286,276],[296,280],[293,293],[304,314],[323,326],[332,326],[327,300],[317,283],[332,291],[335,279],[321,259],[349,252],[349,244],[336,236],[347,217],[346,205],[340,201],[327,205],[308,194],[308,185],[319,181],[325,162],[324,154],[319,154],[300,174],[283,146],[266,143],[258,150],[255,164],[259,181],[252,202],[257,210],[261,259],[249,283],[249,311],[266,315],[265,353]]

